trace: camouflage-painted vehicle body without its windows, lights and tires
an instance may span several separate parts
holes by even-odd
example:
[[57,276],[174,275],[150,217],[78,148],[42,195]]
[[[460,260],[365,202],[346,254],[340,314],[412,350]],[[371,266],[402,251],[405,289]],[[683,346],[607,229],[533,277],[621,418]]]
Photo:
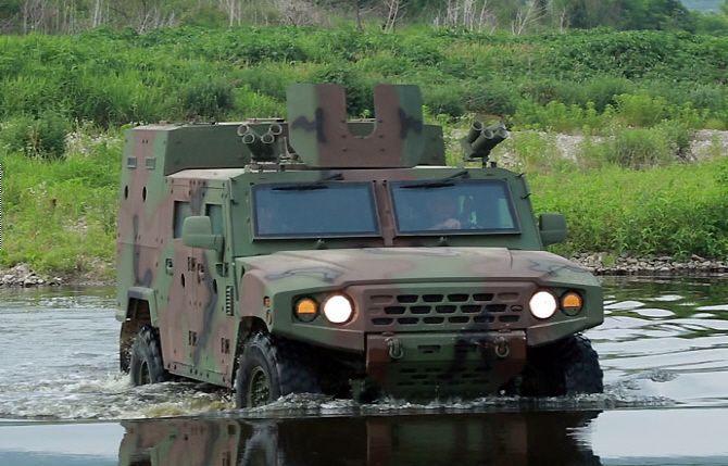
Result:
[[[124,323],[123,367],[136,329],[151,324],[160,328],[167,370],[231,387],[246,338],[264,330],[332,357],[353,356],[361,377],[368,375],[392,393],[479,394],[513,379],[527,348],[603,320],[597,279],[542,251],[525,177],[497,167],[425,166],[444,163],[444,146],[441,129],[422,125],[418,90],[378,86],[375,92],[376,122],[347,123],[342,89],[293,86],[290,125],[268,119],[244,127],[263,135],[280,125],[274,154],[279,163],[251,152],[255,148],[240,141],[239,124],[153,125],[126,133],[116,314]],[[369,129],[372,135],[363,137]],[[398,232],[390,184],[453,176],[503,180],[520,231]],[[252,192],[273,182],[371,184],[380,235],[256,238]],[[177,229],[181,224],[175,205],[199,216],[217,206],[222,252],[188,247],[175,237],[175,224]],[[557,297],[576,291],[585,306],[576,315],[560,311],[540,320],[528,311],[539,289]],[[353,301],[350,322],[294,317],[298,299],[321,304],[335,292]],[[403,354],[392,357],[390,345]],[[473,376],[459,379],[461,385],[437,377],[434,386],[432,377],[412,383],[407,374],[425,369]]]

